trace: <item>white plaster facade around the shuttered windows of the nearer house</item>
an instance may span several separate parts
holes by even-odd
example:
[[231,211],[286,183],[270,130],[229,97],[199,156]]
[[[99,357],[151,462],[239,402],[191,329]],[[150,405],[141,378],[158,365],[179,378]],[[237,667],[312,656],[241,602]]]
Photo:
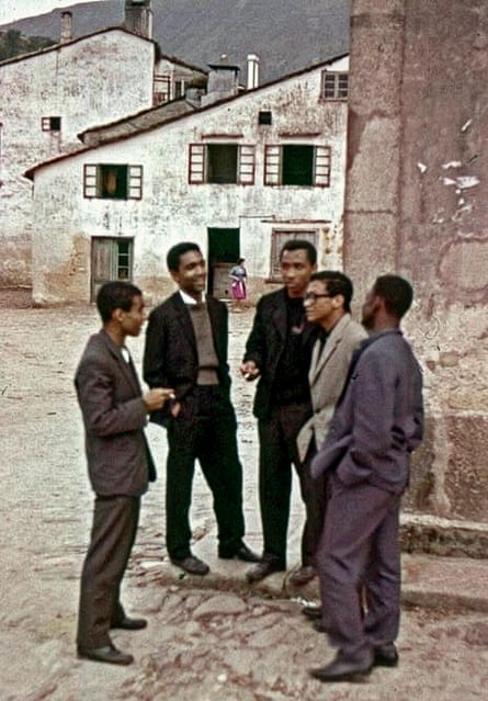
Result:
[[[253,298],[265,291],[273,228],[318,229],[320,265],[340,265],[347,105],[319,102],[320,74],[316,69],[37,170],[34,299],[89,299],[89,258],[80,262],[78,253],[80,239],[89,248],[93,236],[135,238],[134,278],[151,298],[172,289],[164,262],[170,246],[190,239],[206,251],[207,227],[240,229]],[[260,110],[272,111],[272,125],[258,124]],[[264,145],[284,143],[284,133],[296,134],[295,143],[331,146],[330,188],[263,185]],[[189,145],[216,134],[220,143],[237,134],[230,140],[256,145],[253,185],[189,184]],[[100,162],[144,165],[143,200],[83,200],[83,163]]]

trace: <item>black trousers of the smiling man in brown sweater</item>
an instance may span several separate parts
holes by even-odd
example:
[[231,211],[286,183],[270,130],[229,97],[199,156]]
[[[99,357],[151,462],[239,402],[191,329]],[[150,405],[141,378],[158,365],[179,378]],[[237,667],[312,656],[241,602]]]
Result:
[[245,534],[242,467],[236,415],[214,386],[198,386],[184,398],[168,426],[166,543],[170,557],[191,553],[190,506],[195,460],[214,498],[219,550],[237,549]]

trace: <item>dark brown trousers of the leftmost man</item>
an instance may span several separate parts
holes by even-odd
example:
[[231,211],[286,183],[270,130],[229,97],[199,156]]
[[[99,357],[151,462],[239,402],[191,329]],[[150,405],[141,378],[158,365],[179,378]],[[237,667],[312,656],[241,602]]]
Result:
[[95,497],[90,545],[81,573],[77,644],[102,647],[124,618],[121,583],[139,521],[139,497]]

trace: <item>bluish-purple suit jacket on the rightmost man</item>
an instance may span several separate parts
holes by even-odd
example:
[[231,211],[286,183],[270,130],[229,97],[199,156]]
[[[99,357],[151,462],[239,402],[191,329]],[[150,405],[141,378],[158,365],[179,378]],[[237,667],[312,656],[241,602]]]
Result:
[[401,331],[377,333],[364,343],[311,473],[336,470],[347,486],[367,482],[401,494],[422,433],[419,364]]

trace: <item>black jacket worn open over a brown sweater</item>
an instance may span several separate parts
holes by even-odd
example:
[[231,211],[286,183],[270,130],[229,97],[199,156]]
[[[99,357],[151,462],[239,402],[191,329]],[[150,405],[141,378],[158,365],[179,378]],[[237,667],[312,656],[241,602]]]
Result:
[[[226,305],[206,297],[211,317],[215,352],[218,359],[217,374],[225,396],[230,393],[227,364],[228,312]],[[190,313],[181,294],[175,292],[149,315],[144,352],[144,378],[149,387],[172,387],[178,400],[196,385],[198,352]],[[151,414],[151,421],[166,426],[169,410]]]

